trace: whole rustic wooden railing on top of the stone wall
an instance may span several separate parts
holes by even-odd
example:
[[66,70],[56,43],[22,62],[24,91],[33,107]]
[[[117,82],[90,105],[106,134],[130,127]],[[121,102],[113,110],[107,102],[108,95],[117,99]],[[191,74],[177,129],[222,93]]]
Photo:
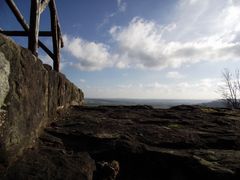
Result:
[[[5,31],[0,30],[8,36],[27,36],[28,37],[28,49],[32,51],[35,56],[38,56],[38,47],[41,47],[52,59],[53,69],[59,71],[60,65],[60,48],[64,46],[61,35],[60,25],[58,21],[57,9],[55,0],[30,0],[30,23],[25,21],[23,15],[17,8],[13,0],[5,0],[17,21],[21,24],[24,31]],[[24,0],[25,1],[25,0]],[[49,7],[51,18],[51,31],[40,31],[40,15]],[[52,37],[53,52],[48,49],[40,40],[39,36]]]

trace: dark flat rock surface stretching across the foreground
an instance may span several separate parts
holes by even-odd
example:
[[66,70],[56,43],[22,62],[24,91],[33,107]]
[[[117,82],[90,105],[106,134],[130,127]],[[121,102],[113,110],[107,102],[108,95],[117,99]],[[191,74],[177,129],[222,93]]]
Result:
[[5,177],[20,171],[22,179],[240,179],[240,111],[71,107]]

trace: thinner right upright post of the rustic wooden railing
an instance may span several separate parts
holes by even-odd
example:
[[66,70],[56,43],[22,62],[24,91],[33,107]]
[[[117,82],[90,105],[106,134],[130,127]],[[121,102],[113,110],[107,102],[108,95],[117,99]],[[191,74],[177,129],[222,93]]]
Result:
[[52,44],[53,44],[53,69],[59,71],[60,66],[60,38],[58,32],[58,22],[57,22],[57,10],[54,0],[49,2],[50,16],[51,16],[51,31],[52,31]]

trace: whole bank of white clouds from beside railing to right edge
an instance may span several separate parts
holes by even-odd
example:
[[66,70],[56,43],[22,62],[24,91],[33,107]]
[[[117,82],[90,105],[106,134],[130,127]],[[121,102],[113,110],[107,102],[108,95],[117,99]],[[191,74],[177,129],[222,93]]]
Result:
[[[124,3],[118,0],[119,9]],[[81,70],[107,67],[179,68],[203,61],[240,58],[240,3],[237,0],[180,0],[172,22],[161,25],[135,17],[109,30],[114,48],[64,36],[65,50]]]

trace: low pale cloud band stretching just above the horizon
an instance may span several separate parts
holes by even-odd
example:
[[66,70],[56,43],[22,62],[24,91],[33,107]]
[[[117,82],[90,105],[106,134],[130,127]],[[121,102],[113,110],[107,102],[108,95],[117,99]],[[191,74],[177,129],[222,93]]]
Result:
[[220,79],[201,79],[165,84],[161,82],[121,84],[109,87],[89,87],[87,97],[95,98],[147,98],[147,99],[217,99]]

